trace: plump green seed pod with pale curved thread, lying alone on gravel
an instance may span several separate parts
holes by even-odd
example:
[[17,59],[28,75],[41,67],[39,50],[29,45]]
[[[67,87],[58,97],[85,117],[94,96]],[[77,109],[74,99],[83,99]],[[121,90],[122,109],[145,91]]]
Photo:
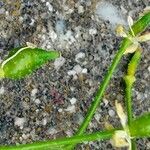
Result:
[[45,51],[41,48],[15,48],[3,61],[0,67],[0,77],[20,79],[29,75],[48,60],[58,58],[57,51]]

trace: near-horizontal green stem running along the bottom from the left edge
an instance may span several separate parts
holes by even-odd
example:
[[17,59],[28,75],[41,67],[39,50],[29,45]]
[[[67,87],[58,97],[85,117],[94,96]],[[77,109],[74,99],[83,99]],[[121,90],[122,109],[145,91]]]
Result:
[[[107,130],[96,132],[92,134],[86,134],[82,136],[73,136],[68,138],[35,142],[32,144],[21,144],[17,146],[0,146],[0,150],[48,150],[55,148],[60,148],[63,150],[62,146],[65,144],[77,144],[85,141],[95,141],[95,140],[106,140],[110,139],[116,130]],[[64,149],[65,150],[65,149]]]

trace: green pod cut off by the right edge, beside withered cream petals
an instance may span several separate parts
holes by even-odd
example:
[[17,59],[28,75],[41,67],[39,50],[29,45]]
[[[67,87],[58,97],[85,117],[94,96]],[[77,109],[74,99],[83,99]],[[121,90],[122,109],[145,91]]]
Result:
[[150,113],[133,120],[129,126],[129,130],[131,137],[150,137]]

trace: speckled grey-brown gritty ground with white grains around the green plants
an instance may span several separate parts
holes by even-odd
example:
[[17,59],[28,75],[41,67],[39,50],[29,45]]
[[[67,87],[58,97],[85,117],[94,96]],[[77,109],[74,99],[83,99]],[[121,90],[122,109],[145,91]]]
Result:
[[[29,143],[73,135],[84,119],[120,37],[117,24],[127,26],[128,15],[138,18],[149,0],[1,0],[0,60],[11,48],[36,44],[62,52],[25,79],[0,81],[0,143]],[[133,90],[134,115],[150,111],[150,43],[143,55]],[[120,126],[115,100],[124,102],[123,58],[87,132]],[[137,140],[150,149],[149,139]],[[78,145],[77,150],[112,150],[110,141]]]

